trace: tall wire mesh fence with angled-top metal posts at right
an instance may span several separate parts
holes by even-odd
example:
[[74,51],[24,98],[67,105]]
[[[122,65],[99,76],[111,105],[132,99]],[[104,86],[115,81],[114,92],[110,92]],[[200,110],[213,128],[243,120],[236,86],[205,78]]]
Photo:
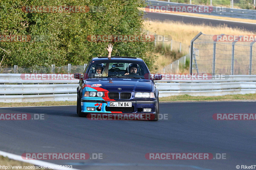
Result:
[[256,74],[255,41],[219,42],[213,36],[199,33],[191,41],[190,73]]

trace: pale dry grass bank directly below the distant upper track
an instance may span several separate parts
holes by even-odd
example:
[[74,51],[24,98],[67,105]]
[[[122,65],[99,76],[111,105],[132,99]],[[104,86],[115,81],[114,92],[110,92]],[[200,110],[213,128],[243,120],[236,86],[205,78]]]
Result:
[[255,34],[255,32],[244,31],[227,26],[207,26],[204,24],[194,25],[174,21],[144,21],[144,29],[159,35],[171,35],[172,40],[190,45],[190,41],[200,32],[204,34]]

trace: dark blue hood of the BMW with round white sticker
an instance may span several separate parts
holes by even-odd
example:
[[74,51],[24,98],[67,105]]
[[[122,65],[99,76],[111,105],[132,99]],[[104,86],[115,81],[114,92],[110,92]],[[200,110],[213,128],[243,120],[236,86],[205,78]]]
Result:
[[[151,92],[153,85],[152,80],[138,78],[88,78],[84,80],[84,83],[87,85],[87,87],[93,88],[96,86],[109,92]],[[121,90],[118,90],[118,88],[121,88]]]

